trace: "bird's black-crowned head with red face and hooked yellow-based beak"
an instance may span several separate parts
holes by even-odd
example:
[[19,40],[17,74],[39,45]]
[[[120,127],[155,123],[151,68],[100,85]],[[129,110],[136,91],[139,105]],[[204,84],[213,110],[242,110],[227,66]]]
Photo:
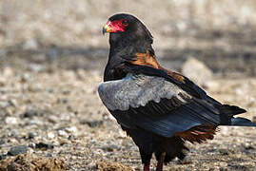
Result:
[[110,33],[110,43],[118,41],[141,41],[145,40],[152,44],[153,37],[148,28],[135,16],[127,13],[118,13],[111,16],[103,27],[103,34]]

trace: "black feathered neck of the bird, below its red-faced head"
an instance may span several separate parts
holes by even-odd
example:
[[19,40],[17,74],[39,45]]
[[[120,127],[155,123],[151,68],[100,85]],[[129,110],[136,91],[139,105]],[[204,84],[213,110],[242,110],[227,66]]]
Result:
[[110,50],[108,55],[108,64],[104,72],[104,81],[118,80],[126,76],[122,69],[126,62],[135,60],[135,53],[146,53],[149,51],[154,55],[151,46],[152,38],[143,36],[133,37],[127,33],[110,33]]

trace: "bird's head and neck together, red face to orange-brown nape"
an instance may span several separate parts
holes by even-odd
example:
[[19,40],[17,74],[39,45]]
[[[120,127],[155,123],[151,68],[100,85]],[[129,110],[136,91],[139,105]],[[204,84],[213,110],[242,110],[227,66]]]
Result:
[[109,33],[110,44],[104,81],[125,77],[131,65],[157,66],[151,46],[153,37],[135,16],[115,14],[108,18],[102,31],[104,34]]

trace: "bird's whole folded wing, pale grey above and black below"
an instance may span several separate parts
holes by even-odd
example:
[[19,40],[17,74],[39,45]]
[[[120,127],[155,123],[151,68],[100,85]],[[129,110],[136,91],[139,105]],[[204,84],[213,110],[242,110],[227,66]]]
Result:
[[228,124],[231,118],[162,77],[128,74],[100,85],[99,95],[118,123],[164,137],[200,125]]

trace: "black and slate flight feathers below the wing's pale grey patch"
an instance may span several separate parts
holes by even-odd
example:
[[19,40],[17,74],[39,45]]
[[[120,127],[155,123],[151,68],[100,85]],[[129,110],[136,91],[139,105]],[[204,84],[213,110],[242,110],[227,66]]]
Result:
[[126,115],[127,119],[131,119],[126,122],[133,128],[139,127],[163,137],[172,137],[176,132],[186,131],[196,125],[222,123],[220,112],[213,112],[211,107],[198,104],[197,100],[190,100],[187,104],[175,106],[171,100],[162,99],[160,103],[149,102],[146,106],[130,107],[127,111],[110,112],[121,124]]

